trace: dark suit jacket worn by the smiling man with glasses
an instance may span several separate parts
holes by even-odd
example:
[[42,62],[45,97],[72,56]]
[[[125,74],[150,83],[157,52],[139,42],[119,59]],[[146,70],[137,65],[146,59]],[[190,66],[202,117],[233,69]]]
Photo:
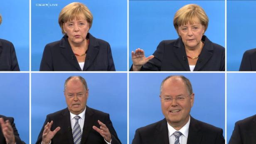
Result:
[[[132,144],[169,144],[166,119],[137,129]],[[225,144],[223,130],[190,117],[187,144]]]

